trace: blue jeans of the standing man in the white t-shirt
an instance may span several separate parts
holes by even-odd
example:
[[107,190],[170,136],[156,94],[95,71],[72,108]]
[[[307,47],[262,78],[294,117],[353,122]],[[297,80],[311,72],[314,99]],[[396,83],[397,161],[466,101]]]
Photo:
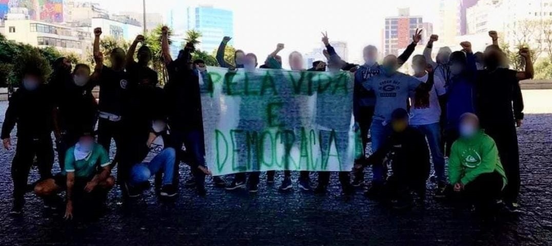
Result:
[[420,130],[426,135],[429,150],[431,150],[431,158],[433,159],[433,169],[438,181],[446,182],[445,177],[445,158],[441,149],[441,127],[439,123],[427,125],[412,125],[412,127]]

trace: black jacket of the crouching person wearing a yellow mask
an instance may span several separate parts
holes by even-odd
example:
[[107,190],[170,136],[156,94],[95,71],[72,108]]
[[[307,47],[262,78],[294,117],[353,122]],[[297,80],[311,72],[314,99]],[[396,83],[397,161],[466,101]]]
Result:
[[415,128],[408,127],[402,133],[393,133],[367,162],[380,165],[385,157],[391,158],[391,169],[397,178],[420,181],[429,177],[426,136]]

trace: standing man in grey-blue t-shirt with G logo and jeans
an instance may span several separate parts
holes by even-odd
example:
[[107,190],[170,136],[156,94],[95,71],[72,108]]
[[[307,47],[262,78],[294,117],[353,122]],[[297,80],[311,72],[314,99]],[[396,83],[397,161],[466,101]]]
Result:
[[[408,96],[411,92],[416,94],[427,94],[432,90],[434,84],[434,73],[431,67],[427,67],[428,79],[426,83],[420,80],[397,72],[399,63],[397,57],[389,55],[385,57],[382,73],[364,81],[363,86],[376,95],[374,118],[370,127],[372,139],[372,152],[378,151],[384,141],[391,134],[390,120],[391,113],[396,108],[406,110]],[[379,193],[386,175],[386,167],[375,165],[373,169],[372,186],[365,195],[374,197]]]

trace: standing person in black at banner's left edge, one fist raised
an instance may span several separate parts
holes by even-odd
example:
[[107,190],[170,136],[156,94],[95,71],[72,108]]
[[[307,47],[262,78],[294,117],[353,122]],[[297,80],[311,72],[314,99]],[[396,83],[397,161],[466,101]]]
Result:
[[[168,28],[166,29],[168,31]],[[162,48],[163,58],[167,64],[169,80],[164,86],[164,94],[167,97],[168,125],[177,150],[176,172],[179,163],[187,163],[192,170],[192,177],[186,182],[186,187],[195,187],[199,195],[205,195],[205,173],[198,167],[205,167],[205,146],[203,139],[203,116],[201,114],[200,79],[208,81],[205,63],[201,60],[193,62],[194,69],[187,66],[192,61],[192,53],[195,47],[187,43],[173,61],[168,44],[167,32],[163,32]],[[197,69],[197,70],[196,70]],[[201,75],[201,77],[199,76]],[[181,151],[185,146],[186,153]],[[173,178],[173,183],[178,183],[178,175]],[[225,187],[226,183],[220,177],[213,177],[216,187]]]

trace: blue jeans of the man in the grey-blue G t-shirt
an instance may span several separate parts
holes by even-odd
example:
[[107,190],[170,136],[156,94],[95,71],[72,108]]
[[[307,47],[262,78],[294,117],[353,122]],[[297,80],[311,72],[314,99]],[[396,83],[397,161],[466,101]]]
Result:
[[[370,126],[370,135],[372,137],[372,153],[375,153],[382,145],[385,144],[387,138],[391,135],[392,129],[390,125],[383,125],[380,119],[374,119]],[[384,165],[372,166],[372,182],[383,183],[385,180],[387,167]]]

